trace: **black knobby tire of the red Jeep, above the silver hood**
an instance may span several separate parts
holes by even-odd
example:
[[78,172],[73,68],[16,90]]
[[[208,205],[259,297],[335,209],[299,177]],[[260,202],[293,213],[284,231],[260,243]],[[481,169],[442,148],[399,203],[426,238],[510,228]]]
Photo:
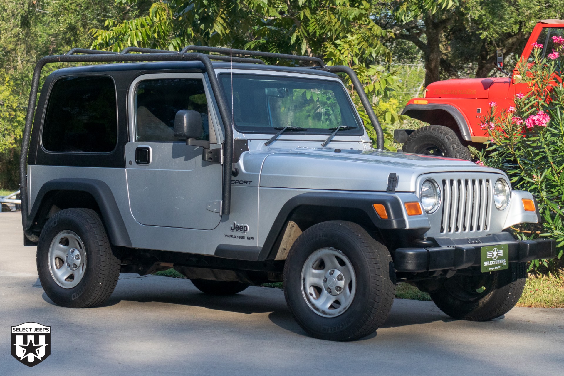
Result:
[[472,159],[470,150],[462,145],[456,132],[442,125],[430,125],[415,130],[409,135],[403,151],[468,161]]

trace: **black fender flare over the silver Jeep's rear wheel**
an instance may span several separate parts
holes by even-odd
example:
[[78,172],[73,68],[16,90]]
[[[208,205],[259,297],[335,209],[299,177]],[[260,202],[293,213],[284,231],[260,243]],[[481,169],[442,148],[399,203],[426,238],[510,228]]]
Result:
[[129,233],[127,233],[124,219],[121,216],[116,199],[113,197],[112,190],[108,187],[108,184],[96,179],[54,179],[43,184],[37,193],[36,200],[33,202],[25,230],[29,230],[36,222],[36,217],[43,205],[45,196],[52,191],[82,191],[90,193],[100,208],[100,214],[102,214],[102,220],[104,221],[110,242],[116,246],[131,246]]

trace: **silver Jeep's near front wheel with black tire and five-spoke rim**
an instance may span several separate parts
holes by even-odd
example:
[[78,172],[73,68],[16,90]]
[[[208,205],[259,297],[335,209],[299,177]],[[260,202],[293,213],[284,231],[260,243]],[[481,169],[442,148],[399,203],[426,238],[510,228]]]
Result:
[[358,224],[329,221],[304,231],[284,264],[284,296],[307,333],[355,340],[386,320],[395,295],[387,248]]

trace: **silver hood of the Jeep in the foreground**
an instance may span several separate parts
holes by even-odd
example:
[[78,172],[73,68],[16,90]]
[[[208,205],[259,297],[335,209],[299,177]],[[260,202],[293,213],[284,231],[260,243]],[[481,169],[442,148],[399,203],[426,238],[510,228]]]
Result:
[[430,172],[503,172],[473,162],[387,151],[296,148],[266,156],[260,186],[343,191],[386,191],[398,175],[398,192],[415,192],[417,177]]

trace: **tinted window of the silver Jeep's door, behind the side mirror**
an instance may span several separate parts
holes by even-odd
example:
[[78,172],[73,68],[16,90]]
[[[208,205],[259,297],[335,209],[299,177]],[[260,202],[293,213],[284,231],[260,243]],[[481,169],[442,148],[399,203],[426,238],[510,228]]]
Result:
[[200,140],[209,140],[208,100],[197,78],[147,79],[137,86],[137,141],[179,141],[174,137],[174,117],[180,110],[202,116]]

